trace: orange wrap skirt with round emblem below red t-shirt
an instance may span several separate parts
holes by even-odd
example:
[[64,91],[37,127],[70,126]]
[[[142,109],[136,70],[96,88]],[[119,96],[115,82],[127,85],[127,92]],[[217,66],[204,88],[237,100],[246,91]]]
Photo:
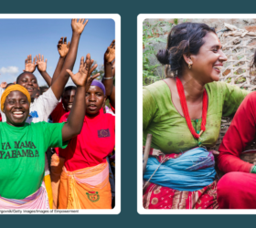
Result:
[[112,209],[108,162],[78,171],[63,167],[59,209]]

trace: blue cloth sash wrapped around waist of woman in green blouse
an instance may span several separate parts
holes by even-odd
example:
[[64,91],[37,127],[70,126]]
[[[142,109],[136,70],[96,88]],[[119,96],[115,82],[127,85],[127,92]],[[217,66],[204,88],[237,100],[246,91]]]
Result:
[[216,176],[214,157],[204,148],[188,150],[159,165],[156,158],[149,157],[144,180],[149,180],[155,172],[150,182],[179,191],[200,190],[212,183]]

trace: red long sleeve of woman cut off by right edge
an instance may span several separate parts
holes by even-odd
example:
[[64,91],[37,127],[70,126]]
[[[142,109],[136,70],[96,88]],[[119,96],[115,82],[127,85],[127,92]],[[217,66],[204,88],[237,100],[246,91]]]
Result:
[[241,102],[220,146],[218,166],[220,171],[250,172],[252,164],[240,160],[240,154],[256,134],[256,92],[251,92]]

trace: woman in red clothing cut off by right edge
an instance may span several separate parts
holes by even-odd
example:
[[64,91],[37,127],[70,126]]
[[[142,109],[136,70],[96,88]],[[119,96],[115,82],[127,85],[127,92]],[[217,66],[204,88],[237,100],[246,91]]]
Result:
[[[253,65],[256,65],[256,52]],[[221,209],[256,209],[256,166],[240,160],[241,152],[255,139],[255,100],[254,91],[242,101],[219,146],[218,167],[227,173],[217,185]]]

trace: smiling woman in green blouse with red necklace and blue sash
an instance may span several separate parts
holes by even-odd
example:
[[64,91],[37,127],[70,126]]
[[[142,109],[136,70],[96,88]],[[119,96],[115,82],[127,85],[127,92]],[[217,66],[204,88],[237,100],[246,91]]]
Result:
[[227,57],[214,28],[205,24],[173,27],[157,58],[170,70],[144,87],[144,145],[152,134],[152,152],[161,153],[147,162],[144,208],[218,208],[208,149],[218,140],[221,117],[235,113],[248,92],[218,82]]

